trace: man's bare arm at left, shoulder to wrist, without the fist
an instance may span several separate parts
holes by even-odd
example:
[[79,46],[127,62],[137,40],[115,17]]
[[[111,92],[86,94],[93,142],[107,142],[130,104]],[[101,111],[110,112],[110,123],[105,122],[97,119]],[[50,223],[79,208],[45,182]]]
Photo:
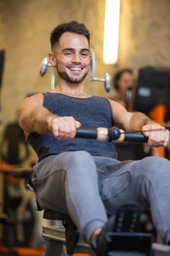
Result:
[[36,94],[23,100],[18,108],[19,123],[21,128],[28,132],[48,134],[48,118],[58,117],[43,107],[43,94]]

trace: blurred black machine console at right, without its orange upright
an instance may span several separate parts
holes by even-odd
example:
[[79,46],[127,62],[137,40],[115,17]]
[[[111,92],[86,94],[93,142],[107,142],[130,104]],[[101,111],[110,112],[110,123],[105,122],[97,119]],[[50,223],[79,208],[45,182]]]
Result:
[[134,98],[134,110],[149,115],[158,105],[167,107],[165,121],[170,121],[170,68],[144,67],[139,77]]

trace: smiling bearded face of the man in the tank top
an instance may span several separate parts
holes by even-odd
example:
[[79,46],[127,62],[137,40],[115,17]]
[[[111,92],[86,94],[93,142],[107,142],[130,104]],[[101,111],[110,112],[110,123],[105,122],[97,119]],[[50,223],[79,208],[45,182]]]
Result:
[[57,73],[71,83],[82,82],[88,74],[91,55],[84,35],[65,32],[54,50]]

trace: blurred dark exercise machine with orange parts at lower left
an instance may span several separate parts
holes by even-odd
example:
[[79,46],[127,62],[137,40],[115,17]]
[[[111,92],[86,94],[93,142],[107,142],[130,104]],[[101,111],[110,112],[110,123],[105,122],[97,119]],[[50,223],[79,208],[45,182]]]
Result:
[[[22,181],[12,175],[14,168],[22,167],[23,162],[30,156],[28,143],[23,129],[17,123],[9,123],[4,130],[0,144],[0,173],[3,177],[3,213],[8,216],[3,223],[3,246],[26,246],[29,244],[34,227],[34,212],[27,197],[25,215],[20,215],[20,205],[23,205]],[[22,155],[20,155],[22,150]],[[29,195],[31,195],[28,192]],[[27,216],[26,216],[27,215]],[[23,230],[20,226],[23,226]],[[27,233],[24,231],[27,230]],[[1,251],[0,247],[0,251]],[[11,253],[11,252],[10,252]]]

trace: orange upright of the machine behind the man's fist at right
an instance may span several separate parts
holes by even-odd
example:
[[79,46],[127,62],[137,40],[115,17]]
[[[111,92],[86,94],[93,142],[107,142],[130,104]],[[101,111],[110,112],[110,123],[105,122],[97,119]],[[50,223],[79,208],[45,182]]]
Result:
[[[164,126],[164,118],[167,113],[167,107],[164,104],[156,105],[149,113],[149,117],[155,122]],[[156,157],[165,157],[164,147],[152,148],[152,155]]]

